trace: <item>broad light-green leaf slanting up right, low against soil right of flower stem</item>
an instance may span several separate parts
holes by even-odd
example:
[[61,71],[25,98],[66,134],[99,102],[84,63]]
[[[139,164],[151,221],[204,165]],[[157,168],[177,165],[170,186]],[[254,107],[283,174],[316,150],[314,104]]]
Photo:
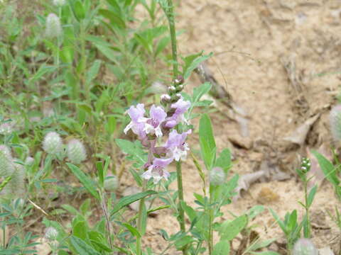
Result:
[[247,226],[247,215],[237,217],[232,221],[223,222],[219,231],[220,241],[231,241]]

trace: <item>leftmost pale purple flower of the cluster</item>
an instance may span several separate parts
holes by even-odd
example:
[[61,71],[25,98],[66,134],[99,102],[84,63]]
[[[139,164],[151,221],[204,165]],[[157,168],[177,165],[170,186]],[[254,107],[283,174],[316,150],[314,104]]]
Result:
[[131,118],[131,122],[126,125],[126,128],[124,128],[124,134],[131,129],[134,134],[139,135],[139,137],[146,137],[146,133],[144,132],[144,123],[139,121],[141,118],[144,118],[144,113],[146,113],[144,110],[144,104],[139,103],[137,106],[130,106],[127,112]]

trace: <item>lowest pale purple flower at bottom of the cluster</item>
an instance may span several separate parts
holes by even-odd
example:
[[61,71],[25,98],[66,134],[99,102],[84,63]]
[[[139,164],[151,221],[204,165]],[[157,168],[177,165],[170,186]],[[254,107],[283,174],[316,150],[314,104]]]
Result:
[[151,164],[151,166],[148,167],[148,170],[142,174],[142,178],[147,180],[153,178],[154,183],[158,183],[162,178],[168,179],[170,174],[166,171],[165,167],[168,166],[168,164],[171,164],[172,161],[173,158],[154,159],[153,164]]

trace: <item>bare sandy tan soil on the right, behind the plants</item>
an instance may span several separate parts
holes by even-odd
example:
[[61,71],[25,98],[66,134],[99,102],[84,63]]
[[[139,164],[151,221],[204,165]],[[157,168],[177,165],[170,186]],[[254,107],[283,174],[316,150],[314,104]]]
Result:
[[[233,152],[231,176],[253,173],[264,163],[290,176],[251,184],[224,208],[222,220],[232,219],[231,213],[242,215],[258,204],[272,208],[282,218],[296,209],[301,218],[303,208],[298,201],[304,195],[295,169],[301,157],[312,157],[312,149],[326,155],[333,146],[328,114],[337,103],[340,84],[341,1],[193,0],[181,1],[177,12],[177,28],[186,30],[178,38],[180,54],[213,52],[207,66],[231,94],[234,105],[247,113],[247,125],[240,125],[238,119],[224,114],[231,108],[216,100],[217,111],[210,115],[218,151],[229,147]],[[193,74],[188,83],[187,90],[192,91],[200,80]],[[301,145],[285,139],[315,115],[318,119],[306,136],[298,130],[298,136],[303,135]],[[197,135],[189,144],[198,149]],[[190,160],[184,166],[183,181],[185,200],[195,205],[193,192],[202,193],[202,186]],[[317,182],[320,186],[311,208],[313,242],[318,248],[330,246],[338,254],[340,229],[328,211],[340,208],[340,201],[330,183]],[[269,249],[285,254],[283,232],[269,210],[251,223],[256,224],[254,231],[260,239],[276,238]],[[158,234],[161,228],[178,231],[171,212],[163,210],[149,219],[147,246],[156,250],[166,247]],[[237,246],[236,242],[234,248]]]

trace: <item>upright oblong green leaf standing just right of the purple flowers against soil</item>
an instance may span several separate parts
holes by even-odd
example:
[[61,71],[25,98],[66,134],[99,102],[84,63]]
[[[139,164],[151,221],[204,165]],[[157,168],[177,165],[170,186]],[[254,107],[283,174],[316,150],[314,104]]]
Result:
[[211,170],[215,164],[215,137],[213,136],[212,124],[210,117],[203,114],[199,123],[199,140],[202,159],[205,162],[207,170]]

